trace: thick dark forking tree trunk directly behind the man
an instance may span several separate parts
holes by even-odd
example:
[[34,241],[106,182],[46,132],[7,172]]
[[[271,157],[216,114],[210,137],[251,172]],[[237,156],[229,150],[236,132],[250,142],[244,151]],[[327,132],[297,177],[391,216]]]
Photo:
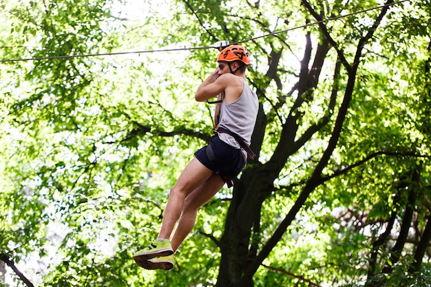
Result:
[[[307,34],[306,37],[309,40],[310,35]],[[317,79],[324,64],[324,55],[328,53],[328,50],[328,42],[322,41],[322,44],[317,46],[313,67],[311,70],[308,70],[308,63],[311,61],[311,41],[307,41],[304,59],[302,60],[302,70],[297,85],[297,89],[300,89],[298,92],[306,93],[317,85]],[[277,59],[280,59],[280,57]],[[273,65],[277,64],[277,61],[273,59],[270,69],[274,69]],[[305,102],[304,97],[298,96],[292,109],[296,110]],[[295,145],[294,139],[297,132],[296,123],[298,116],[294,114],[291,113],[286,119],[279,145],[275,149],[271,160],[266,162],[266,164],[250,162],[249,167],[242,173],[240,180],[235,183],[233,199],[227,213],[226,228],[220,241],[222,259],[216,286],[232,286],[238,282],[257,255],[257,246],[252,242],[251,232],[253,226],[255,231],[259,231],[262,203],[273,191],[273,182],[284,167],[284,164],[286,164],[288,157],[302,146]],[[260,152],[262,147],[265,127],[266,118],[261,107],[252,138],[252,149],[257,151],[257,153]],[[317,130],[313,130],[313,132],[307,134],[304,138],[311,138]],[[253,286],[253,277],[249,276],[243,280],[245,283],[242,281],[242,284],[245,284],[245,286]]]

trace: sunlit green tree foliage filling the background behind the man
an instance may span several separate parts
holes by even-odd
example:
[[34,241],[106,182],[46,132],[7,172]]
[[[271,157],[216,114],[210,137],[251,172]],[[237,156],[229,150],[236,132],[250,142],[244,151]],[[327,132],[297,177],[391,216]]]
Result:
[[[307,2],[316,16],[301,2],[6,0],[0,56],[209,47],[383,4]],[[361,49],[353,96],[322,180],[253,273],[254,286],[430,285],[430,12],[429,1],[394,5]],[[354,64],[358,41],[378,14],[324,23],[337,45],[330,43],[317,84],[304,93],[298,79],[307,69],[312,74],[310,59],[317,61],[317,47],[326,43],[322,25],[244,43],[253,54],[247,76],[264,114],[256,129],[260,157],[244,181],[249,173],[260,180],[253,194],[262,200],[255,213],[243,214],[258,213],[258,224],[246,236],[249,254],[237,262],[238,276],[313,179],[349,85],[340,55]],[[223,286],[229,211],[251,192],[241,181],[202,208],[174,270],[142,270],[132,259],[156,236],[169,187],[212,134],[213,107],[193,95],[216,56],[208,48],[1,62],[3,262],[14,262],[39,286]],[[298,98],[304,103],[296,107]],[[280,149],[293,149],[282,145],[291,116],[297,131],[287,138],[298,149],[271,166],[284,155]],[[267,169],[260,173],[261,167]],[[278,168],[275,178],[264,177]],[[423,242],[421,265],[413,270]],[[30,284],[10,269],[8,277],[10,286]]]

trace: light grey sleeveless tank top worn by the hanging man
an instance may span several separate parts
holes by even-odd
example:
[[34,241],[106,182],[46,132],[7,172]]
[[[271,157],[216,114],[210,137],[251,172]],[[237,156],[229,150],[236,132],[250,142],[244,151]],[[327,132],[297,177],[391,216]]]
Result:
[[[224,129],[238,134],[247,145],[250,145],[251,134],[253,134],[257,110],[259,109],[259,101],[255,92],[250,89],[243,78],[242,81],[244,82],[244,87],[240,97],[228,105],[224,101],[222,102],[218,127],[224,127]],[[233,136],[218,133],[218,137],[228,145],[240,149],[240,145]]]

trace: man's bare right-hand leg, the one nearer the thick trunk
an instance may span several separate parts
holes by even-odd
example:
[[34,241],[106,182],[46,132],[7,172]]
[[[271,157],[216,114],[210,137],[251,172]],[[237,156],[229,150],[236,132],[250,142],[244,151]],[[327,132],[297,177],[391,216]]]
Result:
[[213,173],[213,175],[207,179],[203,184],[195,189],[185,198],[185,203],[182,208],[182,213],[174,236],[172,237],[171,244],[174,253],[185,240],[185,237],[191,232],[196,222],[196,214],[200,206],[211,200],[215,193],[218,193],[223,187],[224,181],[220,176]]

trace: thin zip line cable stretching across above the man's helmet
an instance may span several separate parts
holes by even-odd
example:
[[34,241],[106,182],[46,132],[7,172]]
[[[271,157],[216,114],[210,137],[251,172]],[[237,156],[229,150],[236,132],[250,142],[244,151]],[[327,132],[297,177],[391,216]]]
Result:
[[[323,19],[321,21],[316,21],[316,22],[313,22],[313,23],[308,23],[308,24],[305,24],[305,25],[300,25],[300,26],[297,26],[297,27],[294,27],[294,28],[289,28],[289,29],[286,29],[286,30],[271,32],[269,34],[264,34],[264,35],[261,35],[261,36],[255,36],[253,38],[245,39],[245,40],[242,40],[242,41],[237,41],[237,42],[232,43],[232,44],[244,43],[244,42],[248,42],[248,41],[253,41],[253,40],[256,40],[256,39],[264,38],[264,37],[267,37],[267,36],[274,36],[276,34],[286,33],[286,32],[292,31],[292,30],[307,28],[307,27],[310,27],[312,25],[317,25],[317,24],[320,24],[320,23],[328,22],[328,21],[333,21],[333,20],[337,20],[337,19],[341,19],[341,18],[345,18],[345,17],[350,17],[350,16],[353,16],[353,15],[356,15],[356,14],[361,14],[361,13],[369,12],[369,11],[372,11],[372,10],[377,10],[377,9],[380,9],[380,8],[385,8],[385,7],[388,7],[388,6],[395,6],[397,4],[400,4],[400,3],[403,3],[403,2],[408,2],[408,1],[410,1],[410,0],[401,0],[401,1],[394,2],[394,3],[388,3],[388,4],[384,4],[384,5],[381,5],[381,6],[374,7],[374,8],[369,8],[369,9],[361,10],[361,11],[358,11],[358,12],[352,12],[352,13],[349,13],[349,14],[346,14],[346,15],[337,16],[337,17],[331,17],[331,18],[328,18],[328,19]],[[160,50],[143,50],[143,51],[129,51],[129,52],[110,52],[110,53],[81,54],[81,55],[64,55],[64,56],[45,56],[45,57],[25,58],[25,59],[6,59],[6,60],[0,60],[0,63],[18,62],[18,61],[40,61],[40,60],[51,60],[51,59],[87,58],[87,57],[92,57],[92,56],[114,56],[114,55],[123,55],[123,54],[145,54],[145,53],[155,53],[155,52],[174,52],[174,51],[187,51],[187,50],[204,50],[204,49],[210,49],[210,48],[220,48],[220,47],[218,47],[216,45],[218,43],[221,43],[221,42],[224,42],[224,41],[217,42],[217,43],[215,43],[215,45],[208,46],[208,47],[178,47],[178,48],[160,49]],[[229,42],[227,42],[227,41],[225,41],[225,42],[228,43],[228,45],[229,45]]]

